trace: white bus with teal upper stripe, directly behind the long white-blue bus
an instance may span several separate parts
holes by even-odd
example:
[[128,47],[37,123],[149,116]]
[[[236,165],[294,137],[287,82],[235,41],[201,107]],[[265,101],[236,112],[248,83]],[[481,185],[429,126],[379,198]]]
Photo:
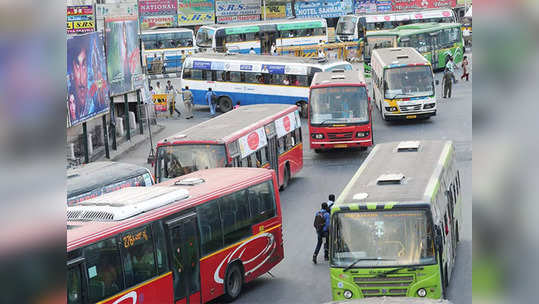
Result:
[[317,44],[328,41],[326,19],[271,20],[239,24],[202,26],[196,36],[201,50],[233,53],[269,54],[271,45]]

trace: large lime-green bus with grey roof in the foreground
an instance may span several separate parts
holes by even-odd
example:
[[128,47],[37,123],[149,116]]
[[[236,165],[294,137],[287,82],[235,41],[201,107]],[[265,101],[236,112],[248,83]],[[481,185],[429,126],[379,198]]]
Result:
[[333,300],[445,298],[461,224],[451,141],[376,145],[331,208]]

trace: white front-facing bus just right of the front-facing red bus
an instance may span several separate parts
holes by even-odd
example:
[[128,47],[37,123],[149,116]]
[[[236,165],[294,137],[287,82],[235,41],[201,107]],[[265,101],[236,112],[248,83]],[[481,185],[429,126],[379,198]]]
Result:
[[371,67],[373,99],[382,119],[436,115],[432,66],[416,49],[374,49]]

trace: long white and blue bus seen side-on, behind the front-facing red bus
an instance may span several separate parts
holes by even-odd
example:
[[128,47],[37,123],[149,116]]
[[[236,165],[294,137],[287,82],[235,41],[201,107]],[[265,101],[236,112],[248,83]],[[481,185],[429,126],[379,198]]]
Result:
[[208,104],[205,95],[211,88],[223,112],[239,101],[295,104],[304,115],[314,73],[335,69],[352,70],[352,65],[292,56],[199,53],[185,59],[182,88],[189,86],[197,105]]

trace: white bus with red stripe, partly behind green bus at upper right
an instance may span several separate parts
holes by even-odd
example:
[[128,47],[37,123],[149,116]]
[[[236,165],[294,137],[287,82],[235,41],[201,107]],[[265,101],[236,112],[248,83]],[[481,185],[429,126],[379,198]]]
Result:
[[450,8],[346,15],[339,17],[335,34],[338,41],[358,41],[364,38],[365,32],[389,30],[399,25],[425,22],[450,23],[456,22],[456,17]]

